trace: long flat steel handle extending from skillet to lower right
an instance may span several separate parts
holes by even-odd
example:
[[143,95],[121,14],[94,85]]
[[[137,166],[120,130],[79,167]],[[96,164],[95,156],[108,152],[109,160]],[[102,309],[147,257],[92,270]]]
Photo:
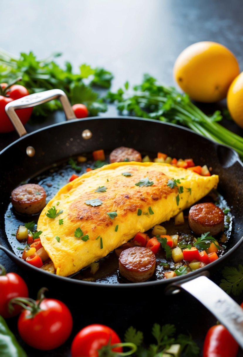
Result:
[[167,293],[175,293],[182,288],[196,297],[228,329],[243,348],[243,309],[220,287],[206,276],[172,283]]

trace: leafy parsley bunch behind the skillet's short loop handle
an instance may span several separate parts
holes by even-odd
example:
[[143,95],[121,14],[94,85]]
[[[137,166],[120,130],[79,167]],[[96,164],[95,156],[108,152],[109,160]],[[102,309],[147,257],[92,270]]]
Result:
[[[111,72],[82,64],[79,72],[73,73],[70,62],[66,62],[62,69],[54,61],[59,56],[61,53],[55,53],[46,59],[37,60],[33,52],[21,52],[20,57],[16,57],[0,50],[0,82],[10,83],[17,77],[22,77],[19,84],[25,86],[30,94],[58,88],[67,94],[72,105],[85,104],[91,116],[105,112],[107,105],[93,89],[109,88],[113,78]],[[53,100],[34,107],[33,114],[47,116],[57,109],[61,109],[61,104]]]

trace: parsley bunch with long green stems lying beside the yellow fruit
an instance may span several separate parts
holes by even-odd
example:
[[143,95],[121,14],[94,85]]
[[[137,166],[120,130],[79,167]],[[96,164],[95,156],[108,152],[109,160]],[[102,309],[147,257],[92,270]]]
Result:
[[144,75],[140,85],[133,87],[133,91],[129,91],[126,82],[124,89],[109,92],[107,100],[116,102],[122,113],[187,126],[208,139],[231,146],[243,157],[243,138],[218,123],[222,119],[220,111],[207,116],[192,104],[188,95],[159,84],[148,74]]

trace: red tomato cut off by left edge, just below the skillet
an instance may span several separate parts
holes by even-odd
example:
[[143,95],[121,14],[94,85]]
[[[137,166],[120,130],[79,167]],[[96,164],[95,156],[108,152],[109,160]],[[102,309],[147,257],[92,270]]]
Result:
[[0,315],[4,318],[16,316],[22,310],[21,306],[14,305],[12,313],[8,310],[8,303],[12,298],[23,296],[28,297],[29,291],[24,280],[15,273],[7,273],[3,266],[0,275]]

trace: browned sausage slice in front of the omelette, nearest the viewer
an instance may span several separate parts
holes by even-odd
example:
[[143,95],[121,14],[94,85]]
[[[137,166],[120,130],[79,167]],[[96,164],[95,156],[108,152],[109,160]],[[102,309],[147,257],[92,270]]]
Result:
[[133,247],[124,250],[119,257],[120,273],[136,283],[147,281],[154,274],[156,258],[154,253],[145,247]]

